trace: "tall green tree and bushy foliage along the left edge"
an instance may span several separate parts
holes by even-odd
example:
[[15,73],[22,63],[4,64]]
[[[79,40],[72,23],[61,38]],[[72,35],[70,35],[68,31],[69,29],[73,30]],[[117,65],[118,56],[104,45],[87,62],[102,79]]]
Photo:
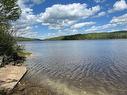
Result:
[[11,22],[16,21],[21,14],[17,0],[0,0],[0,56],[10,57],[17,53],[17,43],[11,30]]

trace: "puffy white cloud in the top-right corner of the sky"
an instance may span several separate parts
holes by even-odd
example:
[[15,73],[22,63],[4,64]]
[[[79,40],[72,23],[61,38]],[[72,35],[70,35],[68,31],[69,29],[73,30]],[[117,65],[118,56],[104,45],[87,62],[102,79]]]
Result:
[[127,3],[125,0],[119,0],[116,1],[113,5],[113,9],[109,10],[109,13],[115,12],[115,11],[121,11],[127,9]]

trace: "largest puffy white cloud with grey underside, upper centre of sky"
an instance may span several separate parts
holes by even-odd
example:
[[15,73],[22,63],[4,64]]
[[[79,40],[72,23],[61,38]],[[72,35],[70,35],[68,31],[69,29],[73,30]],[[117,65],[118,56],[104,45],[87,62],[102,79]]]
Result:
[[100,11],[100,6],[88,8],[86,4],[73,3],[68,5],[56,4],[46,8],[40,14],[40,22],[50,28],[60,29],[74,24],[80,19],[86,19]]

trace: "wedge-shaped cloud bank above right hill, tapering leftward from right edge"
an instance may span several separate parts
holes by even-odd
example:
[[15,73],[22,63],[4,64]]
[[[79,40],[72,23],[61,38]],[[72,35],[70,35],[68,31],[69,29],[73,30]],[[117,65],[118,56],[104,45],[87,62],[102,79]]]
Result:
[[107,24],[100,25],[100,26],[92,26],[91,28],[87,29],[86,32],[104,32],[106,30],[113,31],[116,30],[126,30],[127,28],[127,14],[113,17],[111,21]]

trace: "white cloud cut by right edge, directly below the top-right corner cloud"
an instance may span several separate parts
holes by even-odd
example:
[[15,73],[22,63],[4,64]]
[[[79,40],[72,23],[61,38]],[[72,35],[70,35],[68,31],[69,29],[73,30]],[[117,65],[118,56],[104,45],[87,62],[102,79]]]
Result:
[[110,21],[110,23],[127,24],[127,13],[122,16],[113,17],[113,19]]

